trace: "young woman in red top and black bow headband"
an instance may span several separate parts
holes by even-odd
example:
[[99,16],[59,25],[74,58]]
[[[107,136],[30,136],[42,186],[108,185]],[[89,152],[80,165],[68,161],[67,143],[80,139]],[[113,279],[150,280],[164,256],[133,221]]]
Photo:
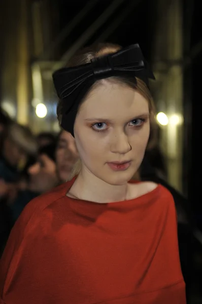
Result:
[[59,121],[80,160],[17,221],[1,304],[186,303],[172,195],[131,181],[150,136],[150,77],[139,45],[85,49],[54,73]]

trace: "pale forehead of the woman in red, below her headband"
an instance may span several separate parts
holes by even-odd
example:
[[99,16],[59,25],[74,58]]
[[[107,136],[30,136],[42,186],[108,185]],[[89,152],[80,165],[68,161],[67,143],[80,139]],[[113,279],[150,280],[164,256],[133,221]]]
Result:
[[126,117],[149,112],[148,101],[137,90],[111,84],[92,90],[80,107],[79,115],[88,117]]

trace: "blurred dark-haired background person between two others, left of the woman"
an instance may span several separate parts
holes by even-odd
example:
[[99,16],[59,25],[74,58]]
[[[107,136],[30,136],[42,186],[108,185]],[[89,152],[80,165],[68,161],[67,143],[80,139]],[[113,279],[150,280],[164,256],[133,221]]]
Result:
[[14,222],[27,203],[33,198],[48,192],[58,184],[55,149],[56,143],[51,143],[39,148],[36,161],[30,163],[30,167],[27,169],[27,188],[19,189],[17,197],[13,203],[10,204]]

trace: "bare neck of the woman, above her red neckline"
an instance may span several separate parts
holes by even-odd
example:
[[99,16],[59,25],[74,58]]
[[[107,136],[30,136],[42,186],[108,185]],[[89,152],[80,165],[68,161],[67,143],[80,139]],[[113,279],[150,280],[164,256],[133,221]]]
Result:
[[127,183],[111,185],[82,168],[69,193],[80,200],[110,203],[126,200],[127,192]]

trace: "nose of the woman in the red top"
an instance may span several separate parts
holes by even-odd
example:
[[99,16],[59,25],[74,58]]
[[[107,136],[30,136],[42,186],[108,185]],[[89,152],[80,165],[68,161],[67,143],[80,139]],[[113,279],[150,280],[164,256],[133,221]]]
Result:
[[128,141],[128,136],[124,133],[117,133],[111,139],[111,151],[118,154],[126,154],[131,150],[131,145]]

